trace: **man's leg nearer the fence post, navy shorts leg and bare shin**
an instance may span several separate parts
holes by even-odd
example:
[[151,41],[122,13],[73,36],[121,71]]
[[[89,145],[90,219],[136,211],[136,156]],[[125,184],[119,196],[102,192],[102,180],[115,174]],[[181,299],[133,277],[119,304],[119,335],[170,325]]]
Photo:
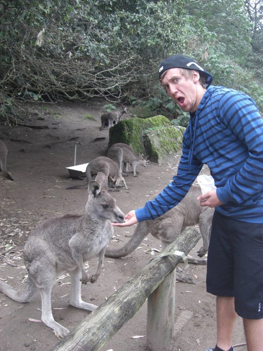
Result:
[[215,211],[207,257],[207,292],[217,296],[217,347],[208,350],[232,350],[232,333],[237,319],[233,297],[234,255],[228,222],[227,217]]

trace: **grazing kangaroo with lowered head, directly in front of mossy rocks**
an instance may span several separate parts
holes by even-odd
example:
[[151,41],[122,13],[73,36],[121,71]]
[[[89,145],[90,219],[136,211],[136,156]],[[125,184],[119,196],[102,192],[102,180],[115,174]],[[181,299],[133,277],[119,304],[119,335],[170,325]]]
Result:
[[117,163],[120,171],[122,172],[122,163],[125,172],[128,172],[128,165],[131,166],[133,176],[136,176],[136,166],[142,165],[146,167],[147,160],[142,155],[139,157],[134,153],[130,145],[124,143],[113,144],[108,150],[107,156]]

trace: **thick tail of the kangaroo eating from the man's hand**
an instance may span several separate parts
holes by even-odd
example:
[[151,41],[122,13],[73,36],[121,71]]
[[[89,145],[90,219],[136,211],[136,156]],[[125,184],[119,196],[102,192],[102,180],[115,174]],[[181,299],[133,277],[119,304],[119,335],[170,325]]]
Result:
[[16,290],[11,285],[0,280],[0,292],[17,302],[30,302],[37,295],[37,287],[33,279],[28,275],[25,285]]

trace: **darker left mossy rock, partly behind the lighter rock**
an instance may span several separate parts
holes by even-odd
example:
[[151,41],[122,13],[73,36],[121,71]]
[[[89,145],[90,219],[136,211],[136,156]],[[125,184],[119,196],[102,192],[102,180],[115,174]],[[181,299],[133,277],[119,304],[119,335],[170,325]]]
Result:
[[115,143],[122,142],[130,145],[135,154],[146,155],[147,150],[144,147],[144,132],[164,126],[171,126],[169,119],[164,116],[124,119],[110,128],[108,148]]

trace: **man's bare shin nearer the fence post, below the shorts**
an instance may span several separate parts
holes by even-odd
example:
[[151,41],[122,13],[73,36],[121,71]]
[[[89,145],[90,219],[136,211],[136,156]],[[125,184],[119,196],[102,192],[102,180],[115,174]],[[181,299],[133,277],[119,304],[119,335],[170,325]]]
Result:
[[[231,348],[232,334],[233,334],[236,319],[237,319],[237,313],[235,312],[234,297],[217,296],[216,298],[217,343],[216,344],[222,350],[227,351]],[[253,349],[253,351],[256,351],[256,350]]]

